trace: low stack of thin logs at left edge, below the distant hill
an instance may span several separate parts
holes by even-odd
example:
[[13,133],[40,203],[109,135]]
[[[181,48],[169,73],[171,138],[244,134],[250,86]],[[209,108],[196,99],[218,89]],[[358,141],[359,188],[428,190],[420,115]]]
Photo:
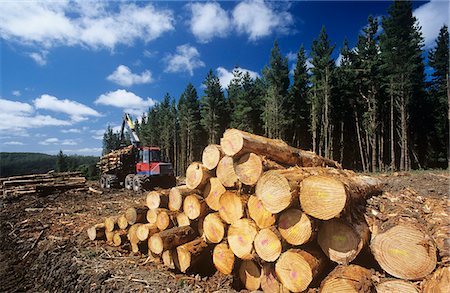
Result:
[[25,194],[47,195],[71,189],[87,190],[86,178],[80,172],[31,174],[0,178],[4,198]]

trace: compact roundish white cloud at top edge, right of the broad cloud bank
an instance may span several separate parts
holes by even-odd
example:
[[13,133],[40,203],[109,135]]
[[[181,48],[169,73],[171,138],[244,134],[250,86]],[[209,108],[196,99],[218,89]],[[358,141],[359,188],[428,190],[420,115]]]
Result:
[[191,32],[202,43],[214,37],[226,37],[232,29],[230,17],[219,3],[192,3],[188,7],[191,10]]

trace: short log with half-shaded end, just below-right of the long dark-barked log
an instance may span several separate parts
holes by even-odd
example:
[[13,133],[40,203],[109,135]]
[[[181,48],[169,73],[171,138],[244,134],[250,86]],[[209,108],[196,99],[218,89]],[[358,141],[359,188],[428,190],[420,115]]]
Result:
[[208,243],[201,237],[178,246],[176,250],[178,261],[175,265],[181,272],[186,272],[200,260],[201,254],[208,248]]

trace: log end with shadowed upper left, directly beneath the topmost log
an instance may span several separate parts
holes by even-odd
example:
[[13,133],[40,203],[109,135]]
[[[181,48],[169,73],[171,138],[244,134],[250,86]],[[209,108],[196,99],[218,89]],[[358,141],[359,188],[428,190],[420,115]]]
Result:
[[263,173],[261,157],[254,153],[247,153],[234,163],[234,170],[239,181],[245,185],[253,186]]

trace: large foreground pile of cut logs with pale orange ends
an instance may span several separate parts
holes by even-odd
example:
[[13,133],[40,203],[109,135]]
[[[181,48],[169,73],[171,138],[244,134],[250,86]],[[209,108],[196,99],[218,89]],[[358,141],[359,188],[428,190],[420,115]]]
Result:
[[[381,202],[370,200],[379,194],[376,178],[229,129],[188,167],[186,185],[149,192],[145,207],[108,218],[88,235],[127,243],[181,272],[212,260],[248,290],[448,292],[448,229],[383,213]],[[448,228],[445,211],[439,221]],[[376,262],[365,257],[372,254]]]

